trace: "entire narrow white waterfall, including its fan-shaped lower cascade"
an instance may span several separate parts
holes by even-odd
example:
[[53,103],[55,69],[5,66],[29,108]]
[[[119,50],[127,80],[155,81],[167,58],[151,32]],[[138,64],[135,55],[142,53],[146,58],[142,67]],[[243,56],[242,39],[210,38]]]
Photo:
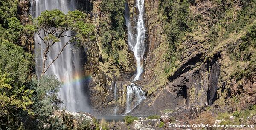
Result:
[[[127,26],[128,33],[128,45],[134,53],[134,57],[136,60],[136,75],[133,81],[137,81],[140,79],[140,75],[143,73],[143,56],[145,53],[145,25],[143,21],[144,15],[144,0],[136,0],[136,7],[139,11],[138,21],[136,25],[136,30],[133,30],[130,23],[130,9],[128,4],[125,4],[125,22]],[[137,32],[134,34],[133,32]],[[131,83],[131,85],[127,86],[127,94],[126,94],[126,110],[125,114],[131,112],[137,105],[140,104],[143,99],[146,98],[143,90]]]

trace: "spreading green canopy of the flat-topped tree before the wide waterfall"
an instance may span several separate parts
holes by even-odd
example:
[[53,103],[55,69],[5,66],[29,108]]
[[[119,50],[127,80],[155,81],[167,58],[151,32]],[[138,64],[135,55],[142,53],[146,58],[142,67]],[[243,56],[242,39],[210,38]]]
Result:
[[[86,16],[87,14],[78,10],[69,11],[67,15],[58,9],[44,11],[34,20],[34,26],[29,26],[26,29],[35,30],[38,34],[41,30],[46,31],[46,37],[43,40],[49,45],[55,44],[61,37],[70,37],[70,42],[85,43],[95,40],[95,26],[85,22]],[[65,35],[67,31],[75,33],[68,36]]]

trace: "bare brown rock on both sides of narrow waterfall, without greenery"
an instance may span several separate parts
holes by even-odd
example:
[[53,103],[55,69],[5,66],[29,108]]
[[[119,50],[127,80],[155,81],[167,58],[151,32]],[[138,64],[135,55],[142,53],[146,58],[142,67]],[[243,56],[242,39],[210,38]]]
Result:
[[[99,21],[106,20],[99,9],[101,0],[93,0],[91,17],[93,23],[99,29]],[[137,14],[134,0],[127,0],[130,7],[130,15]],[[165,55],[169,54],[166,43],[167,36],[164,35],[164,22],[159,11],[160,0],[145,0],[145,26],[147,29],[146,54],[144,57],[143,79],[137,81],[147,98],[141,102],[129,114],[148,115],[160,114],[165,109],[184,110],[181,115],[189,113],[193,106],[213,105],[217,97],[220,98],[223,91],[227,91],[224,96],[241,94],[246,98],[241,99],[241,107],[247,104],[256,103],[256,83],[251,80],[243,82],[242,86],[236,81],[229,82],[225,77],[230,72],[226,72],[225,48],[222,45],[215,50],[210,50],[207,40],[209,28],[218,21],[218,9],[211,0],[195,0],[189,7],[192,14],[201,16],[198,20],[200,26],[196,34],[192,34],[194,39],[185,39],[180,45],[182,52],[178,67],[172,74],[166,75],[163,67],[166,64]],[[234,1],[235,14],[241,8],[240,0]],[[134,26],[135,17],[131,17],[131,25]],[[187,36],[189,37],[189,36]],[[239,38],[237,38],[239,39]],[[99,42],[99,41],[97,41]],[[226,41],[225,41],[226,42]],[[234,41],[236,42],[236,41]],[[85,65],[87,75],[90,75],[87,85],[91,107],[95,115],[122,114],[125,111],[126,86],[131,84],[134,71],[134,56],[129,51],[127,43],[124,52],[127,52],[125,61],[128,64],[121,64],[120,68],[104,61],[100,53],[98,43],[88,48],[87,65]],[[224,78],[225,77],[225,78]],[[114,85],[116,84],[116,95]],[[228,84],[228,85],[227,85]],[[230,88],[225,88],[230,86]],[[88,92],[88,91],[87,91]],[[188,112],[189,111],[189,112]],[[184,119],[179,114],[175,116]]]

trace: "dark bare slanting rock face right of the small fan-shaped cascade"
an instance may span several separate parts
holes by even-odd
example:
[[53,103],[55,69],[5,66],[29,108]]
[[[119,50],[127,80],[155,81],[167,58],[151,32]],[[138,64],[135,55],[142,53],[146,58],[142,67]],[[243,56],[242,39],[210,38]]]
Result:
[[196,66],[196,63],[202,62],[201,56],[199,54],[189,59],[173,76],[169,77],[168,85],[145,99],[131,114],[156,114],[156,111],[160,114],[160,111],[166,108],[175,110],[181,107],[190,108],[192,105],[212,104],[217,96],[218,57],[215,61]]

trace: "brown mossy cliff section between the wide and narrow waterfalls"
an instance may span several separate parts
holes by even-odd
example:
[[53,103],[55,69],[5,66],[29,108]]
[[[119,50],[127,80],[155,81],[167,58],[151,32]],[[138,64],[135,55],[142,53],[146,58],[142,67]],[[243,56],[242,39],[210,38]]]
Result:
[[[89,95],[94,115],[114,115],[115,109],[117,114],[122,114],[125,111],[126,86],[131,85],[130,79],[135,71],[134,57],[125,42],[126,37],[118,41],[114,39],[110,41],[111,44],[113,42],[119,44],[118,50],[115,50],[119,55],[118,63],[112,56],[107,56],[111,54],[105,53],[102,43],[104,38],[102,33],[104,32],[101,25],[106,22],[109,29],[111,20],[108,15],[102,13],[101,3],[100,0],[94,0],[93,9],[90,12],[90,20],[96,25],[97,40],[91,46],[86,47],[87,63],[84,68],[90,79],[87,80],[87,85],[85,85],[88,86],[85,92]],[[115,85],[117,99],[114,97]]]

